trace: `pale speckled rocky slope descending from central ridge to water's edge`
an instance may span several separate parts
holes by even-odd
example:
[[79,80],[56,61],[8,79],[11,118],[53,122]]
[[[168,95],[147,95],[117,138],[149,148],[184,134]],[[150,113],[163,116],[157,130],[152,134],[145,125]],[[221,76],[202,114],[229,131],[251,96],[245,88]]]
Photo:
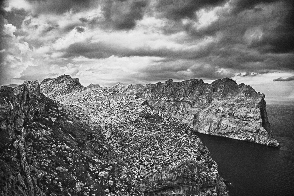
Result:
[[120,179],[136,190],[145,195],[227,195],[216,163],[193,130],[161,118],[144,99],[121,93],[129,89],[131,85],[119,84],[75,91],[57,100],[79,106],[102,126],[113,152],[125,164]]

